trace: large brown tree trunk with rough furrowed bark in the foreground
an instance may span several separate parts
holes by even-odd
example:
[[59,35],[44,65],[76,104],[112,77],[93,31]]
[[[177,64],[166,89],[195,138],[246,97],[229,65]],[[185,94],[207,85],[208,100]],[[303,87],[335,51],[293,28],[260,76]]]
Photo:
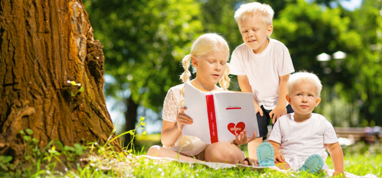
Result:
[[[0,155],[20,158],[19,131],[45,146],[97,141],[114,128],[102,93],[102,45],[81,0],[0,2]],[[72,96],[81,83],[83,92]],[[115,137],[115,135],[113,136]],[[119,139],[111,143],[122,151]]]

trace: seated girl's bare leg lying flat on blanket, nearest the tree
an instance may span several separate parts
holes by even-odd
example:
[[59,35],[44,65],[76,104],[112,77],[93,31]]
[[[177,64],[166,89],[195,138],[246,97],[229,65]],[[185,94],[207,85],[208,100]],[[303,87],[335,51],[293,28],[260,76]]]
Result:
[[161,158],[167,157],[167,158],[179,159],[183,161],[196,161],[196,162],[200,161],[195,158],[185,156],[181,153],[177,153],[175,151],[166,149],[158,145],[151,146],[150,149],[147,151],[147,155],[161,157]]

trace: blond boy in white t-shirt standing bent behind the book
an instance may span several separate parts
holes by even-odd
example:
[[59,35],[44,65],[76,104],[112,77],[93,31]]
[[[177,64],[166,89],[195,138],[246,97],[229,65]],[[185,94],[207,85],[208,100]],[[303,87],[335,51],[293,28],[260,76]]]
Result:
[[254,96],[260,137],[248,143],[248,154],[256,160],[256,149],[266,139],[270,118],[275,124],[280,116],[293,112],[285,96],[294,68],[286,46],[269,38],[273,15],[269,5],[257,2],[241,5],[235,12],[244,43],[232,53],[231,74],[237,75],[242,92]]

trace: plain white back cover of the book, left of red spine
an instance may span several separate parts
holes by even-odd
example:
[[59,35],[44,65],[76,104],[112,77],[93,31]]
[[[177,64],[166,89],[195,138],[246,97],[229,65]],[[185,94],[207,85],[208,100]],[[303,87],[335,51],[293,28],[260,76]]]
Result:
[[196,136],[210,144],[206,94],[188,83],[184,87],[184,107],[187,108],[184,114],[193,119],[193,124],[184,124],[182,134]]

